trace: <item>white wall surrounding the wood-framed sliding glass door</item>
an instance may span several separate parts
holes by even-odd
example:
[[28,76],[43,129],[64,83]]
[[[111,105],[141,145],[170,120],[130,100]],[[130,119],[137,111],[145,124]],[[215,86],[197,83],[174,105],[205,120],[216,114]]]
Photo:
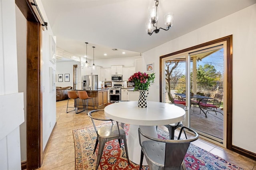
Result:
[[[154,62],[156,83],[149,101],[159,101],[159,56],[233,35],[232,144],[256,153],[256,4],[143,53],[143,65]],[[159,33],[161,34],[161,33]],[[147,61],[147,62],[145,62]],[[146,70],[146,67],[143,68]],[[154,91],[152,95],[151,91]]]

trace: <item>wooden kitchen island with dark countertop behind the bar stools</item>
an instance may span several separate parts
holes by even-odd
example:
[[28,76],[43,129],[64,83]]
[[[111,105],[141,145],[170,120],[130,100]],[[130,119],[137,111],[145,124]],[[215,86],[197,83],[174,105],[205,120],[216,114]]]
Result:
[[[86,91],[89,97],[93,97],[92,99],[88,99],[88,109],[103,109],[108,105],[108,88],[101,88],[96,90],[72,90],[72,91]],[[79,100],[79,108],[82,108],[82,100]]]

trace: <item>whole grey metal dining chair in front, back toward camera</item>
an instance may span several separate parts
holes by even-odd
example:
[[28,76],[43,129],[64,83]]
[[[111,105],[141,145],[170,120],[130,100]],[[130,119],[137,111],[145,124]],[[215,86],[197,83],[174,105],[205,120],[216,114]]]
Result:
[[[183,130],[192,132],[189,139],[180,139]],[[198,139],[197,132],[188,127],[182,127],[177,140],[153,138],[144,134],[140,128],[138,133],[141,146],[140,169],[145,156],[150,170],[186,170],[184,157],[190,142]],[[141,135],[147,138],[143,142]]]

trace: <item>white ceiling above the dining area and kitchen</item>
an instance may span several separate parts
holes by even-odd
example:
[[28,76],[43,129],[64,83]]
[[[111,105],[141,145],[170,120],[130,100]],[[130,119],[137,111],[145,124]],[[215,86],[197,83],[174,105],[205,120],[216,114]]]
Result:
[[168,31],[149,36],[145,23],[148,7],[155,0],[42,0],[57,47],[84,56],[88,42],[88,59],[93,58],[92,46],[96,47],[95,59],[140,56],[254,3],[256,0],[159,0],[158,27],[164,28],[167,12],[174,13],[174,24]]

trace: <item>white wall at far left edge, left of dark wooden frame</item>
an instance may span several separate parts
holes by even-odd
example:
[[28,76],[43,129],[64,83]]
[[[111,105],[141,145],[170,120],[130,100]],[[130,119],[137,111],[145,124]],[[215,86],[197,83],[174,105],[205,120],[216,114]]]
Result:
[[18,93],[15,0],[0,4],[0,169],[19,170],[24,97]]

